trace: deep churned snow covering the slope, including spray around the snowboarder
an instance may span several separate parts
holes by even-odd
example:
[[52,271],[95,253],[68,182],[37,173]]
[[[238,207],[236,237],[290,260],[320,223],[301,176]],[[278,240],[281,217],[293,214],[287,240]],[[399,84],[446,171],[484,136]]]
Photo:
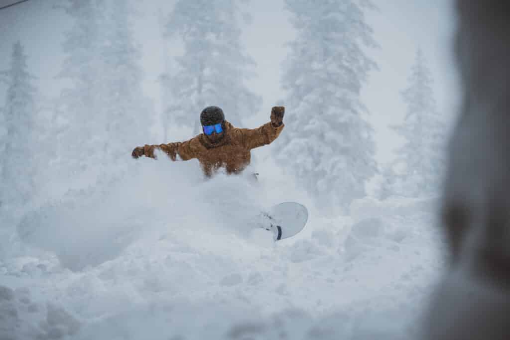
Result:
[[[4,226],[1,339],[416,335],[443,267],[435,199],[367,198],[332,219],[283,175],[204,181],[194,161],[129,164]],[[296,237],[248,227],[289,200],[310,207]]]

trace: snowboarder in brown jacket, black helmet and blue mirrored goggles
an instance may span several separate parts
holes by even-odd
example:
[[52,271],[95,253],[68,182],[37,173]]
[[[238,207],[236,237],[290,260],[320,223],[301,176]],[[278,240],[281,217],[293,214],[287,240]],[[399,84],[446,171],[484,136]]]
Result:
[[211,177],[220,168],[227,174],[240,174],[251,160],[251,150],[272,143],[282,133],[285,107],[271,109],[271,121],[254,129],[237,128],[225,120],[223,110],[210,106],[200,113],[202,134],[185,142],[136,147],[133,158],[144,155],[156,159],[155,149],[172,161],[197,159],[203,173]]

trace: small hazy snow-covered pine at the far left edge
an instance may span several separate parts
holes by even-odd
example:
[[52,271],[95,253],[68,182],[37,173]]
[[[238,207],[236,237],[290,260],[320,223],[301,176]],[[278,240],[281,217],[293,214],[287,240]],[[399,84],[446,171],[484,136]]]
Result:
[[23,206],[34,194],[32,128],[35,120],[35,77],[29,73],[27,55],[18,41],[13,45],[10,69],[3,71],[7,96],[4,107],[2,205]]

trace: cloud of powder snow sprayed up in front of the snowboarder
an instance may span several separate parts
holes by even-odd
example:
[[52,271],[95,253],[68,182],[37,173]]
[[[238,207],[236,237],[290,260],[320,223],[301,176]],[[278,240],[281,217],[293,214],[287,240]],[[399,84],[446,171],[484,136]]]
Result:
[[155,231],[190,238],[248,231],[243,219],[263,207],[260,187],[224,174],[205,181],[197,163],[165,158],[161,154],[158,162],[125,164],[133,170],[118,179],[99,178],[96,187],[69,191],[59,202],[27,215],[18,227],[20,237],[54,251],[64,267],[81,270],[117,257]]

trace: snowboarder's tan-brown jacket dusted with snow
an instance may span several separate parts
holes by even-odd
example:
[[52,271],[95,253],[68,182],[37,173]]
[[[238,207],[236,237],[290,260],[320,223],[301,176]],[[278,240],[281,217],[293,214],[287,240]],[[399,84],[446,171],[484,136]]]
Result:
[[160,145],[145,145],[147,157],[156,158],[154,149],[160,149],[170,156],[172,161],[198,159],[206,176],[211,176],[219,168],[225,168],[228,174],[240,173],[251,160],[250,150],[273,142],[282,132],[284,124],[274,127],[271,122],[259,128],[237,128],[225,121],[225,136],[212,144],[204,134],[186,142]]

